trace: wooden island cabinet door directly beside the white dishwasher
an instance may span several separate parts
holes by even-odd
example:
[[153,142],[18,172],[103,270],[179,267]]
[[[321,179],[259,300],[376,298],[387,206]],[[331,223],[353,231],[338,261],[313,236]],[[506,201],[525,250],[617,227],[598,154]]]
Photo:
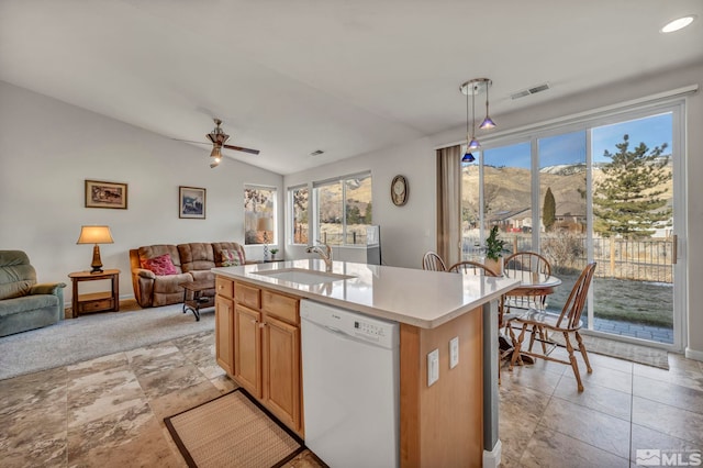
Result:
[[294,431],[300,430],[300,330],[267,316],[264,327],[264,401]]

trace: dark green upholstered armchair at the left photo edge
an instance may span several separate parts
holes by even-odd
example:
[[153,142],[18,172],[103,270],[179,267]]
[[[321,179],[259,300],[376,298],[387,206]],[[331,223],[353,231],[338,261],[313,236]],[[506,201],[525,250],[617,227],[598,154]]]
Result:
[[53,325],[64,319],[63,282],[37,283],[22,250],[0,250],[0,336]]

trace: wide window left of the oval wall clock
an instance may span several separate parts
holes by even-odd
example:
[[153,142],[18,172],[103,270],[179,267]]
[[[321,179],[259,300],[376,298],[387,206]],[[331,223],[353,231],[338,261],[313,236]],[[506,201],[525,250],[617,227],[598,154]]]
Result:
[[371,175],[315,183],[315,234],[331,245],[366,245],[372,223]]

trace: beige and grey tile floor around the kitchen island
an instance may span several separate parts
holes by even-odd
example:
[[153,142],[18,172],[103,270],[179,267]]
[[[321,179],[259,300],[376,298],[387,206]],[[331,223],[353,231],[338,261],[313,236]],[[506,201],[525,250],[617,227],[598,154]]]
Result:
[[[163,419],[234,388],[211,332],[0,381],[2,467],[185,467]],[[669,371],[590,354],[502,374],[504,467],[635,467],[637,449],[689,460],[703,449],[703,365]],[[302,454],[289,467],[312,467]]]

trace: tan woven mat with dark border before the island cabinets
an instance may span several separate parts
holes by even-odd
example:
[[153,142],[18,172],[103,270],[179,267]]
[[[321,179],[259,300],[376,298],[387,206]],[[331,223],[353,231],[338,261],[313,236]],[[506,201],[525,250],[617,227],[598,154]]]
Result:
[[305,449],[241,388],[164,422],[189,467],[280,467]]

